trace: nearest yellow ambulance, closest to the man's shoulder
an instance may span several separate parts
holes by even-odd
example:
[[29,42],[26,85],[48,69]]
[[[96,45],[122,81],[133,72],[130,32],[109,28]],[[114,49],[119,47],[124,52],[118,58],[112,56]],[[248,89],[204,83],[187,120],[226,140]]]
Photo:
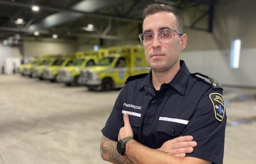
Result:
[[150,68],[140,45],[109,47],[96,66],[82,70],[81,83],[89,90],[112,90],[123,87],[129,76],[149,73]]

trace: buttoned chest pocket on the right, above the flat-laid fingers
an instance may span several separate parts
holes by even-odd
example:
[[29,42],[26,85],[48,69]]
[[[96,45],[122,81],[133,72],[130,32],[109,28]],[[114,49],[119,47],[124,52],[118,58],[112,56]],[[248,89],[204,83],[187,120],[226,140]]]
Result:
[[158,121],[157,125],[157,142],[156,148],[160,148],[162,144],[168,140],[179,137],[187,125],[170,122],[170,121]]

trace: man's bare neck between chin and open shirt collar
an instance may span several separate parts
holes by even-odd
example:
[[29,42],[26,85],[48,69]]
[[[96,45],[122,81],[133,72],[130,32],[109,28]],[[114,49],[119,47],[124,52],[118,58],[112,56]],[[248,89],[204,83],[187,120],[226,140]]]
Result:
[[171,69],[156,72],[152,70],[152,83],[155,90],[160,90],[163,83],[169,83],[180,70],[180,62],[177,62]]

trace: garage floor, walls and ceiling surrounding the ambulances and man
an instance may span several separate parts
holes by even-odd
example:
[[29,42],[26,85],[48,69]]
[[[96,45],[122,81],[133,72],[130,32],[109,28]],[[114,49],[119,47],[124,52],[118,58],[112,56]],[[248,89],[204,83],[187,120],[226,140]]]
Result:
[[255,163],[255,0],[0,0],[0,164],[108,163],[100,130],[120,89],[30,78],[19,66],[47,54],[141,44],[142,11],[153,3],[180,10],[188,35],[181,59],[224,88],[223,163]]

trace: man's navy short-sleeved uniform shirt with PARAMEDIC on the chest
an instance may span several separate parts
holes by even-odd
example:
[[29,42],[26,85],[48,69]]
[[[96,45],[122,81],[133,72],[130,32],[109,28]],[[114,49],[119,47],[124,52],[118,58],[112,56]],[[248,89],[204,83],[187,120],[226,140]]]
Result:
[[123,114],[128,113],[136,141],[159,148],[167,140],[191,135],[197,147],[186,156],[222,164],[226,126],[222,88],[190,74],[182,60],[173,80],[162,84],[157,94],[151,79],[150,72],[126,83],[103,135],[117,141]]

